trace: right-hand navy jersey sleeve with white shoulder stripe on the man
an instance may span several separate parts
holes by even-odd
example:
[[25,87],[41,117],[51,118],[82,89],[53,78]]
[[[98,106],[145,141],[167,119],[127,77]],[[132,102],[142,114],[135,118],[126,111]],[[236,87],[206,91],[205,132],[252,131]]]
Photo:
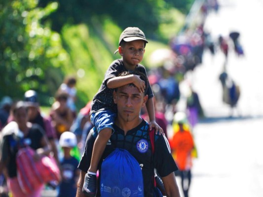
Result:
[[176,171],[178,167],[171,155],[171,149],[167,138],[163,135],[158,135],[154,146],[154,168],[156,168],[159,175],[164,177]]

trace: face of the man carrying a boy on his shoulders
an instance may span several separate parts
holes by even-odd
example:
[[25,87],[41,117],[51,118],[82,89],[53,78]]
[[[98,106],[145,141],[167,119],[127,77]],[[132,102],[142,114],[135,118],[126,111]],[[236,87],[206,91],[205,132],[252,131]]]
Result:
[[117,104],[118,118],[125,122],[139,119],[140,111],[148,99],[144,93],[140,93],[137,87],[125,85],[119,87],[113,93],[114,103]]

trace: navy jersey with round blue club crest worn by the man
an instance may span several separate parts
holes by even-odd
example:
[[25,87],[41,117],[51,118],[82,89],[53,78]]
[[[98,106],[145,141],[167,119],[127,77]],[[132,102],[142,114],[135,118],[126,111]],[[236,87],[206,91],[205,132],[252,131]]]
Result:
[[[105,159],[115,148],[126,149],[138,161],[142,168],[144,178],[144,192],[145,197],[153,196],[153,175],[154,168],[161,177],[169,175],[171,172],[177,170],[177,165],[174,162],[170,153],[170,147],[167,139],[163,135],[156,135],[154,137],[154,155],[151,152],[149,125],[146,121],[142,121],[136,128],[128,131],[124,135],[124,131],[113,125],[114,133],[107,143],[102,159]],[[85,144],[85,150],[82,155],[78,168],[87,172],[90,166],[92,156],[93,144],[96,139],[97,132],[91,130]],[[99,164],[101,167],[102,160]],[[98,184],[99,187],[99,184]],[[100,196],[99,188],[97,197]]]

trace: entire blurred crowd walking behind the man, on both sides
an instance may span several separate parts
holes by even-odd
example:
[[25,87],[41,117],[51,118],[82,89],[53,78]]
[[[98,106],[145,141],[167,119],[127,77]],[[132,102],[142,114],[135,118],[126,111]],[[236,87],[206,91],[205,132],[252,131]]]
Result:
[[[206,2],[207,4],[201,7],[204,17],[209,10],[218,11],[219,9],[216,0]],[[184,80],[188,70],[193,70],[202,63],[204,50],[209,50],[212,55],[221,51],[225,55],[224,70],[219,76],[224,94],[223,101],[234,107],[237,104],[240,90],[227,74],[226,64],[230,47],[238,57],[244,55],[239,37],[240,33],[230,32],[228,37],[220,35],[218,40],[213,40],[210,33],[204,30],[204,23],[199,24],[195,29],[186,27],[182,33],[171,40],[168,58],[166,51],[161,66],[148,70],[149,82],[154,93],[156,122],[162,127],[169,140],[172,155],[180,170],[178,175],[182,178],[185,197],[188,197],[191,182],[192,158],[197,157],[194,128],[199,118],[203,118],[205,114],[198,93],[195,92],[192,85],[188,83],[187,91],[184,90],[182,93],[180,83]],[[10,123],[15,122],[19,130],[24,128],[24,135],[26,135],[26,131],[32,128],[28,126],[28,123],[31,123],[31,125],[38,125],[39,132],[43,134],[41,136],[47,139],[46,143],[42,143],[41,138],[36,150],[49,147],[49,154],[55,158],[61,170],[61,181],[50,182],[45,186],[57,189],[58,197],[75,196],[79,175],[77,165],[83,153],[88,132],[93,128],[90,122],[91,102],[88,101],[79,111],[76,109],[76,83],[75,77],[70,76],[65,79],[54,96],[55,101],[48,113],[41,111],[38,93],[34,90],[25,92],[24,98],[19,101],[14,101],[8,96],[1,98],[0,101],[0,131],[4,131]],[[183,110],[178,108],[181,99],[185,101]],[[141,116],[149,121],[146,109],[142,110]],[[172,132],[169,133],[168,128],[171,128]],[[5,141],[5,134],[1,132],[1,135],[1,141]],[[4,151],[6,150],[1,146],[1,155],[6,155]],[[10,177],[10,174],[11,177],[16,177],[16,173],[4,170],[4,164],[8,164],[8,161],[2,158],[0,161],[0,172],[2,172],[0,193],[7,194],[5,184],[10,183],[4,177]],[[4,176],[5,173],[8,176]]]

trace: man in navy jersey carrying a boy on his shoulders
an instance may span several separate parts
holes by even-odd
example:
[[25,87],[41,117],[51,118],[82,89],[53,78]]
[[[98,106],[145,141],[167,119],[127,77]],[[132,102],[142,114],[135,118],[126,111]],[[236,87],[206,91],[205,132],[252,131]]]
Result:
[[[127,73],[128,75],[125,75]],[[124,72],[123,75],[129,76],[131,74]],[[144,77],[147,82],[144,75],[141,75],[141,77]],[[116,91],[113,93],[113,100],[117,105],[117,116],[113,124],[114,132],[110,142],[107,143],[107,148],[102,155],[99,166],[101,166],[103,159],[111,154],[115,148],[125,149],[138,161],[142,168],[144,197],[154,196],[154,168],[156,168],[162,178],[167,197],[180,197],[174,174],[174,171],[178,168],[170,154],[167,139],[164,135],[155,134],[153,153],[151,150],[153,147],[150,143],[149,124],[139,116],[141,108],[146,105],[147,99],[148,95],[140,92],[134,84],[116,88]],[[85,151],[78,165],[78,168],[81,169],[81,174],[77,184],[76,197],[85,196],[82,187],[86,181],[86,179],[84,180],[85,173],[91,161],[92,147],[97,135],[98,133],[95,130],[91,130],[87,137]],[[147,146],[142,148],[140,146],[142,143]],[[96,194],[96,197],[99,196],[100,188],[97,189]]]

